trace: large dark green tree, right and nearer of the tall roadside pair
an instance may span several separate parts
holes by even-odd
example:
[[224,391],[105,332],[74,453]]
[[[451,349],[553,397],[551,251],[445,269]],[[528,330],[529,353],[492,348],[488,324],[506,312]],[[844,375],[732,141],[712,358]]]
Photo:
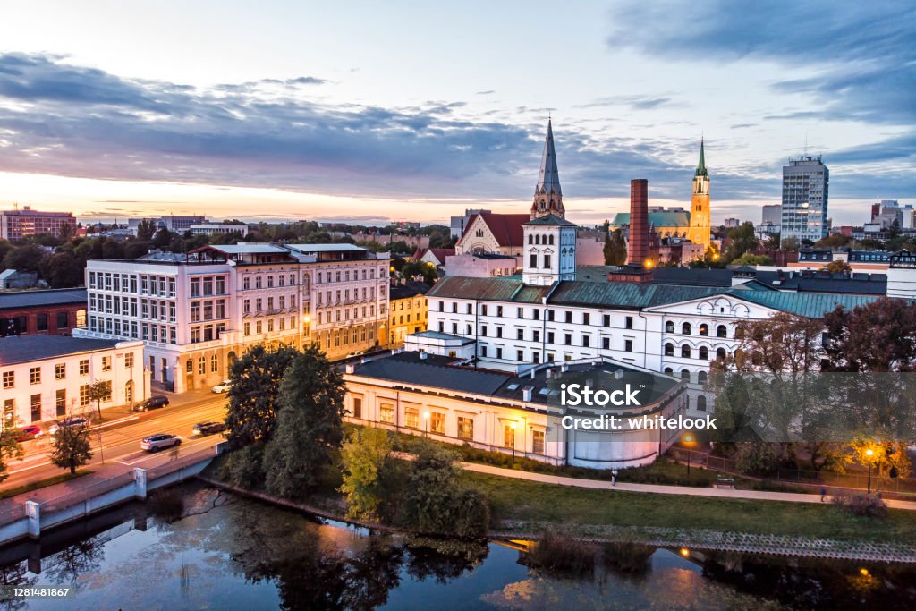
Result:
[[300,496],[333,464],[344,442],[344,376],[310,345],[289,364],[279,387],[277,430],[264,451],[267,490]]

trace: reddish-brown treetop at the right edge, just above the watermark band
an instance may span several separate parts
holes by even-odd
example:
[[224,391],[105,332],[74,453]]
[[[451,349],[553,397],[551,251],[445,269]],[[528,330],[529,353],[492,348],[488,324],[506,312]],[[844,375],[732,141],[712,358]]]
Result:
[[916,303],[882,297],[823,317],[832,371],[911,372],[916,368]]

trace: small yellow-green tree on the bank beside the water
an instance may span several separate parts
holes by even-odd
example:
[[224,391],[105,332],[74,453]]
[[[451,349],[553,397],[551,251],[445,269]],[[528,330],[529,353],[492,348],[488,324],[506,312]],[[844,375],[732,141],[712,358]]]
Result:
[[380,475],[391,460],[391,440],[385,429],[358,429],[341,449],[347,517],[376,519],[382,503]]

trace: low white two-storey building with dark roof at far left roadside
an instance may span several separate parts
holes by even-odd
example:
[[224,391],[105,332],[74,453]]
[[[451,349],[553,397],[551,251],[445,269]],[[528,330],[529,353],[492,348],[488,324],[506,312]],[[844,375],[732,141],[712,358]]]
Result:
[[14,335],[0,339],[3,426],[21,426],[96,409],[89,387],[110,390],[102,407],[149,397],[143,343],[66,335]]

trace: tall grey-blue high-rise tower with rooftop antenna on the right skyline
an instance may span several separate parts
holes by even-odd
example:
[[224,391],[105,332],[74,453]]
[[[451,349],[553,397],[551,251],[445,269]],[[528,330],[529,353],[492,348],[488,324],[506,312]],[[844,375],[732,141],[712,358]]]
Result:
[[780,238],[816,242],[827,235],[830,170],[821,157],[790,159],[782,168]]

